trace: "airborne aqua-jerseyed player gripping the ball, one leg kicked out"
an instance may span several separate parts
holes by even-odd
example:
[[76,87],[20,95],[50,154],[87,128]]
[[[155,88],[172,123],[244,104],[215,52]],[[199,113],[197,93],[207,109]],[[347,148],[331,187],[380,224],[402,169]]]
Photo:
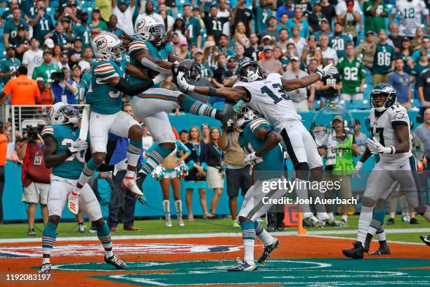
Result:
[[[148,78],[159,75],[171,75],[176,72],[179,62],[183,59],[174,54],[171,44],[166,42],[167,33],[164,23],[160,23],[152,16],[139,20],[134,27],[135,35],[129,44],[130,63],[148,72]],[[177,63],[174,63],[177,62]],[[197,63],[190,67],[189,77],[200,78],[200,65]],[[144,83],[150,81],[136,77],[129,77],[131,83]],[[145,165],[138,172],[138,186],[159,165],[164,158],[174,151],[176,138],[172,132],[167,113],[176,108],[183,108],[186,113],[214,117],[221,122],[227,122],[234,115],[233,106],[225,110],[216,110],[207,104],[196,101],[181,91],[152,88],[144,91],[131,100],[131,108],[138,119],[148,127],[150,134],[155,137],[159,146],[152,151]]]

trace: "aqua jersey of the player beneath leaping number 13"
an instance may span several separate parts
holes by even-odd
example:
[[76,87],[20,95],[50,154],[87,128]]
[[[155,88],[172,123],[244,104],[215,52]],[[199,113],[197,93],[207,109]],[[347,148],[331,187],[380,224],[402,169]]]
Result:
[[[271,125],[269,125],[268,121],[264,120],[263,117],[259,117],[249,122],[245,129],[240,133],[239,145],[242,146],[247,153],[254,153],[254,151],[258,151],[262,146],[264,146],[265,141],[257,139],[255,136],[256,131],[261,128],[268,130],[272,129]],[[257,173],[257,177],[259,179],[282,177],[284,172],[284,166],[282,164],[283,161],[284,156],[280,146],[275,146],[271,151],[264,153],[261,156],[261,160],[257,161],[256,165],[254,165],[254,170],[263,172],[261,174]]]

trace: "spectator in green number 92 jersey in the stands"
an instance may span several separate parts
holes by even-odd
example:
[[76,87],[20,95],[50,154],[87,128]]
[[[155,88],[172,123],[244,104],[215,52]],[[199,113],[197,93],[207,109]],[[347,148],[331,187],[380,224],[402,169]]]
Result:
[[355,56],[354,45],[346,44],[346,57],[337,63],[341,75],[341,100],[363,100],[366,71],[363,63]]

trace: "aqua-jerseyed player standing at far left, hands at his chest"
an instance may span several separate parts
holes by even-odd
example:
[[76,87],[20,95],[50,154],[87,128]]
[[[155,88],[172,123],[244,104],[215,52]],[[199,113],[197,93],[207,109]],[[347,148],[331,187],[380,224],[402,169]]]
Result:
[[[44,127],[44,157],[46,167],[52,167],[51,186],[48,193],[48,223],[42,235],[43,261],[41,273],[51,270],[51,252],[56,243],[58,223],[60,223],[67,195],[74,189],[79,175],[84,169],[84,154],[88,143],[79,141],[80,128],[79,111],[65,103],[56,103],[48,112],[51,125]],[[79,196],[80,208],[84,211],[93,226],[97,229],[97,236],[105,249],[105,262],[117,269],[125,269],[126,264],[112,253],[112,239],[110,229],[103,220],[100,205],[88,184],[82,188]]]

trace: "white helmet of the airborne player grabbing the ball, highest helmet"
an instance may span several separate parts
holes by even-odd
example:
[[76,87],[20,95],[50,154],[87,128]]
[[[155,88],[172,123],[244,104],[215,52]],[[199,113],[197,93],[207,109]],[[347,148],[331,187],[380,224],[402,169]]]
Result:
[[151,42],[155,46],[160,46],[166,42],[167,38],[164,23],[159,22],[157,18],[152,16],[145,16],[141,20],[138,20],[136,25],[134,25],[134,34],[144,41]]

